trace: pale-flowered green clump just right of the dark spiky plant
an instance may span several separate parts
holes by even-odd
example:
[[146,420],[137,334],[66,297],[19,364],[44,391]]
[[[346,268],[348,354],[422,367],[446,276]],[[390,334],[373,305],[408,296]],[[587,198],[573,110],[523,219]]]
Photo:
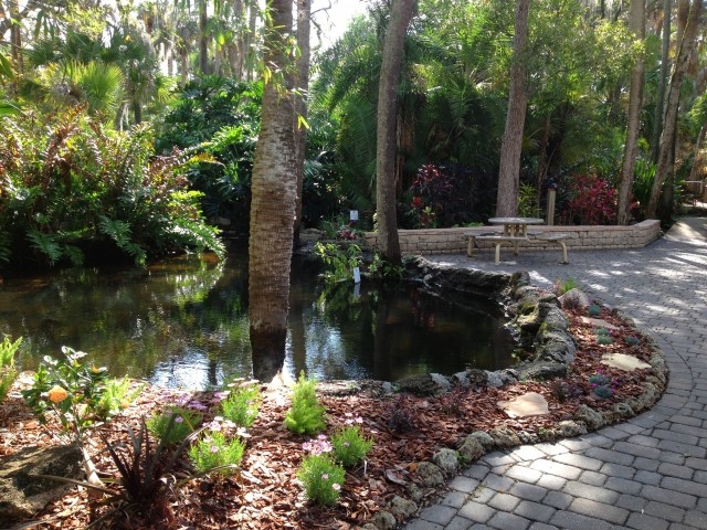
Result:
[[189,448],[189,458],[199,473],[226,476],[235,473],[244,452],[245,444],[240,438],[228,439],[221,432],[209,431]]

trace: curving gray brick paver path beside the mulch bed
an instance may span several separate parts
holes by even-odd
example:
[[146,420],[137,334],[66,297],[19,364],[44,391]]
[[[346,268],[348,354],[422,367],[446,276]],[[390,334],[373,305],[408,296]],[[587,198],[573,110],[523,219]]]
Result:
[[407,530],[707,529],[707,219],[641,250],[570,252],[570,265],[559,252],[507,248],[499,265],[493,252],[430,259],[526,269],[539,286],[571,277],[653,335],[671,373],[653,410],[627,423],[487,454]]

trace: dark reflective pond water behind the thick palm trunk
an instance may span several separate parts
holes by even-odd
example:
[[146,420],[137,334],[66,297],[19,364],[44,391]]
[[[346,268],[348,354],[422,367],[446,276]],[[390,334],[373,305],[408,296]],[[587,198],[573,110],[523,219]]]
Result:
[[[295,261],[284,370],[293,378],[304,370],[318,380],[395,381],[506,368],[515,343],[504,324],[500,306],[484,298],[452,300],[366,279],[333,288],[312,263]],[[181,257],[147,269],[6,278],[0,333],[23,337],[22,370],[67,346],[114,377],[217,388],[252,373],[246,258]]]

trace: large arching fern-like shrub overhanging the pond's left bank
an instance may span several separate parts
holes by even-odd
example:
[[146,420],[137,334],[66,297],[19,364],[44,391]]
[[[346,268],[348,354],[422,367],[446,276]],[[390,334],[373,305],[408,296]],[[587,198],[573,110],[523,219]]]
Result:
[[[45,120],[38,128],[35,120]],[[149,126],[105,130],[85,108],[0,121],[0,257],[19,266],[131,257],[223,243],[188,188],[188,153],[156,156]]]

